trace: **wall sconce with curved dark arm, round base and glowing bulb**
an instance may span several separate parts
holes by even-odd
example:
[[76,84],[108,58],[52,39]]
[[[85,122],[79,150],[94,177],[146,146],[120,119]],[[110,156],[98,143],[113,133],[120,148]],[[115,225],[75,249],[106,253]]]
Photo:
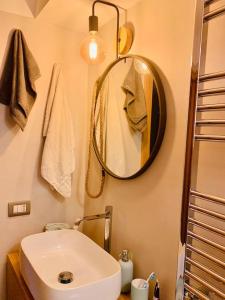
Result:
[[[123,8],[108,1],[95,0],[92,4],[92,15],[89,17],[89,35],[81,45],[81,56],[88,64],[99,64],[105,59],[104,44],[98,34],[98,17],[95,15],[95,5],[97,3],[111,6],[116,10],[116,59],[119,58],[119,54],[126,54],[133,43],[133,31],[131,28],[126,25],[119,28],[119,8]],[[124,40],[124,37],[126,37],[126,41]],[[123,51],[121,50],[120,45],[122,45]],[[126,49],[126,53],[124,52],[124,49]]]

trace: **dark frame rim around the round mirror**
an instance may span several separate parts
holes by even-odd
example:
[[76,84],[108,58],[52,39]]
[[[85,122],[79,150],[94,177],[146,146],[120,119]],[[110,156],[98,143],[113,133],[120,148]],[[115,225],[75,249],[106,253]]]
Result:
[[164,137],[164,133],[165,133],[166,119],[167,119],[165,93],[164,93],[164,88],[163,88],[161,79],[160,79],[160,77],[158,75],[158,72],[156,71],[156,68],[154,67],[153,62],[151,60],[147,59],[146,57],[143,57],[143,56],[140,56],[140,55],[126,55],[126,56],[122,56],[122,57],[116,59],[115,61],[113,61],[106,68],[106,70],[104,71],[104,73],[98,79],[97,90],[96,90],[96,99],[95,99],[94,114],[95,114],[96,107],[97,107],[97,101],[98,101],[99,92],[101,90],[101,87],[102,87],[102,85],[104,83],[104,80],[106,79],[108,73],[110,72],[110,70],[116,64],[118,64],[120,61],[125,60],[127,58],[134,58],[134,59],[136,58],[136,59],[139,59],[142,62],[144,62],[148,66],[149,71],[152,73],[152,75],[154,77],[154,82],[155,82],[155,85],[156,85],[156,89],[157,89],[157,92],[158,92],[158,98],[159,98],[159,130],[158,130],[158,135],[157,135],[156,142],[155,142],[155,145],[153,147],[153,150],[151,152],[151,155],[150,155],[149,159],[146,161],[146,163],[143,165],[143,167],[141,167],[136,173],[134,173],[131,176],[120,177],[120,176],[114,174],[107,167],[107,165],[102,161],[102,158],[101,158],[100,153],[98,151],[98,146],[97,146],[97,141],[96,141],[96,134],[95,134],[95,126],[94,126],[94,129],[93,129],[93,146],[94,146],[94,150],[95,150],[96,156],[98,158],[98,161],[101,164],[102,168],[106,171],[107,174],[109,174],[110,176],[112,176],[114,178],[120,179],[120,180],[134,179],[134,178],[140,176],[141,174],[143,174],[149,168],[149,166],[154,161],[154,159],[155,159],[156,155],[158,154],[159,149],[161,147],[161,144],[162,144],[162,141],[163,141],[163,137]]

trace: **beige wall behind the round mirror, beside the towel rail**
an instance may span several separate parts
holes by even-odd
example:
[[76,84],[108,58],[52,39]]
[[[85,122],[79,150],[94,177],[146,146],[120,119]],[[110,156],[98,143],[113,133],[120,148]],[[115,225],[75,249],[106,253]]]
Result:
[[[174,300],[180,229],[195,1],[142,0],[129,10],[135,26],[131,53],[150,58],[158,66],[166,93],[168,121],[160,152],[145,174],[131,181],[108,177],[99,199],[86,199],[85,213],[114,207],[112,253],[133,253],[136,277],[155,271],[161,299]],[[115,31],[115,27],[114,27]],[[112,24],[102,30],[112,60]],[[114,35],[113,35],[114,37]],[[89,83],[96,78],[89,69]],[[85,232],[101,243],[102,223],[86,224]]]

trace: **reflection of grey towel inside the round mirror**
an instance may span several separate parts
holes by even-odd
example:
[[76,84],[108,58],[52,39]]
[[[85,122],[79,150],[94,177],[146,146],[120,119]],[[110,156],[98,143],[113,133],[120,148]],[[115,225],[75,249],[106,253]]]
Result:
[[135,131],[143,132],[147,126],[145,92],[141,75],[136,71],[134,62],[124,80],[122,89],[126,94],[124,110],[128,123]]

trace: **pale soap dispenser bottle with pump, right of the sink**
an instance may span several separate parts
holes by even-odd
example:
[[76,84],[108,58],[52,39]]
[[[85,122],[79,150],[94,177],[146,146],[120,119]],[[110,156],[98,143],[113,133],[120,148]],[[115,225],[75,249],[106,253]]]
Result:
[[121,292],[129,293],[133,280],[133,262],[129,259],[129,251],[123,250],[119,260],[121,266]]

